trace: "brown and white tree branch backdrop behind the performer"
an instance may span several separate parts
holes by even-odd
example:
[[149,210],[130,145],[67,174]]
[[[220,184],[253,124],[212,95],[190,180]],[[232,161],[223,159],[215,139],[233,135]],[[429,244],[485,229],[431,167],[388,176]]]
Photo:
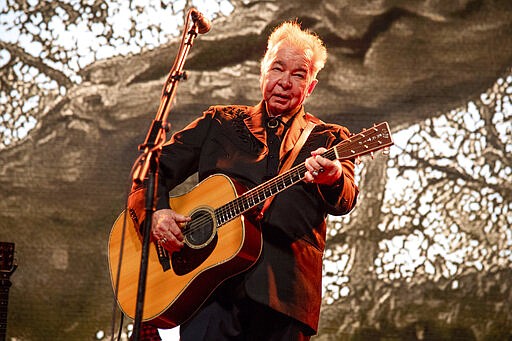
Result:
[[[122,1],[0,5],[0,241],[16,244],[19,265],[13,340],[109,333],[107,240],[191,5],[217,7],[189,54],[173,131],[209,105],[257,103],[266,37],[294,19],[329,51],[307,110],[352,132],[384,120],[393,129],[389,157],[358,167],[357,209],[330,217],[317,339],[512,337],[510,1],[124,3],[126,35],[109,21]],[[142,27],[150,10],[175,15]],[[56,43],[78,26],[111,55],[84,51],[80,37]]]

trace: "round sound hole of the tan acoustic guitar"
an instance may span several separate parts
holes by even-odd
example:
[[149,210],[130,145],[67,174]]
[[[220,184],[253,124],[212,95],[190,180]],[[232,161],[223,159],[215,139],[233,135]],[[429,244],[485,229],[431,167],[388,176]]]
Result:
[[193,213],[191,218],[186,225],[185,242],[191,248],[204,247],[215,236],[213,215],[207,210],[200,210]]

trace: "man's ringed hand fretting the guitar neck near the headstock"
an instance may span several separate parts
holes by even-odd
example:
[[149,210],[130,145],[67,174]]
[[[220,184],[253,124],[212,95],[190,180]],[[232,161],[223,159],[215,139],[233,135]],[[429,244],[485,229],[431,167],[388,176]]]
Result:
[[307,172],[304,175],[304,181],[333,185],[340,179],[343,174],[341,162],[322,157],[321,155],[326,151],[325,148],[318,148],[311,152],[311,157],[307,158],[305,162]]

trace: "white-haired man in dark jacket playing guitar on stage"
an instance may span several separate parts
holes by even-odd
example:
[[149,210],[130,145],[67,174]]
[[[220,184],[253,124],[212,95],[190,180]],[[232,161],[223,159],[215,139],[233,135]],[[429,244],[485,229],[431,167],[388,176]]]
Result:
[[308,122],[316,124],[294,161],[305,164],[304,181],[276,195],[257,222],[264,240],[258,261],[215,290],[181,325],[181,340],[308,340],[316,333],[325,219],[348,213],[358,193],[353,162],[321,156],[348,130],[303,107],[326,59],[316,35],[295,22],[280,25],[261,62],[262,101],[211,107],[163,147],[152,238],[174,252],[190,217],[169,207],[170,190],[195,172],[199,180],[223,173],[255,187],[278,174]]

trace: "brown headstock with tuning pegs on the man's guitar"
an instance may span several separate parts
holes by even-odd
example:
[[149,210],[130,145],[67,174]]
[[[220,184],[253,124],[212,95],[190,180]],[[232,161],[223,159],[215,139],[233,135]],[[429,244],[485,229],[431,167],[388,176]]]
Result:
[[393,145],[393,138],[387,122],[364,129],[336,146],[338,159],[356,158]]

